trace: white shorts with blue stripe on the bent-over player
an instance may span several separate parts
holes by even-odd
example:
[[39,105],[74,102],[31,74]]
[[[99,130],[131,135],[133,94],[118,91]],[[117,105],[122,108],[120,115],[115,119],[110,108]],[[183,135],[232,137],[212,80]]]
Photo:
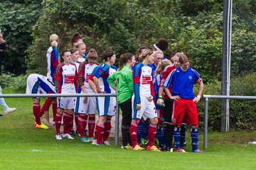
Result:
[[55,94],[55,86],[40,74],[30,74],[26,81],[26,94]]

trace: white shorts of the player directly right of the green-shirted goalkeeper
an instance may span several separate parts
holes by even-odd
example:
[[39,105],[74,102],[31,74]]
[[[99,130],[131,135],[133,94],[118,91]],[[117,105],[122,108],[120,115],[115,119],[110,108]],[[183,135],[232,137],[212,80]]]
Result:
[[149,102],[148,99],[144,96],[140,97],[142,108],[137,111],[136,110],[136,102],[134,96],[132,96],[132,118],[133,119],[144,119],[147,118],[157,118],[156,106],[154,101]]

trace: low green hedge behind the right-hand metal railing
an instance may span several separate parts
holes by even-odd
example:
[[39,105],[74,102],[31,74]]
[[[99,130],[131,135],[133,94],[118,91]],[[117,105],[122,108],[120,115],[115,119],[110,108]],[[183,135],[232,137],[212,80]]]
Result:
[[[247,74],[245,77],[231,79],[230,95],[232,96],[256,96],[255,85],[256,73]],[[239,82],[239,84],[238,84]],[[203,94],[220,95],[220,82],[206,84]],[[233,87],[238,88],[234,89]],[[195,87],[196,90],[196,87]],[[230,128],[235,130],[255,130],[256,128],[256,101],[255,100],[230,100]],[[209,99],[208,102],[208,127],[210,130],[220,130],[221,123],[221,100]],[[198,103],[198,114],[203,120],[204,103]],[[203,127],[203,122],[201,122]]]

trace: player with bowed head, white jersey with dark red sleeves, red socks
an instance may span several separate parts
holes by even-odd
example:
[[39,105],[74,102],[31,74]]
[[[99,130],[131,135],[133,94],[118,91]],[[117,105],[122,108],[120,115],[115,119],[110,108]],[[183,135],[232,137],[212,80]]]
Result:
[[[97,67],[97,52],[92,48],[87,55],[87,62],[82,62],[78,72],[78,94],[93,94],[88,82],[93,69]],[[75,99],[75,115],[78,115],[78,132],[82,142],[92,142],[95,130],[95,97],[77,97]],[[89,117],[89,118],[88,118]],[[88,123],[88,137],[85,137],[85,128]]]

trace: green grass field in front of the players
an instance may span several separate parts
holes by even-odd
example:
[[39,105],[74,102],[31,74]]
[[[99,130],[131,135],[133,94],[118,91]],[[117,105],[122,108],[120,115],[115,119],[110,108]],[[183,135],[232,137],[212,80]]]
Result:
[[[11,91],[4,91],[11,92]],[[33,128],[31,98],[5,98],[17,111],[0,118],[0,169],[256,169],[256,131],[210,132],[203,154],[134,152],[55,140],[55,130]],[[1,111],[1,110],[0,110]],[[188,143],[191,142],[188,133]],[[200,148],[203,147],[200,135]],[[112,144],[113,144],[112,139]],[[121,145],[120,145],[121,146]],[[187,150],[191,150],[188,145]]]

